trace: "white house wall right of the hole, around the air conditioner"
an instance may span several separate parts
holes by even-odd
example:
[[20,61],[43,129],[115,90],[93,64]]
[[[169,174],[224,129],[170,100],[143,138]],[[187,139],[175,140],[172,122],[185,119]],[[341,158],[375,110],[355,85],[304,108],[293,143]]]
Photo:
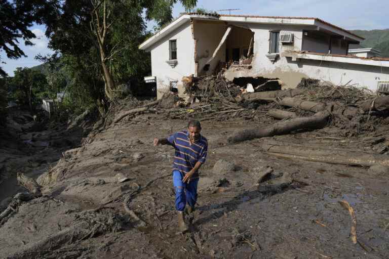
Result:
[[[300,51],[303,44],[313,47],[318,42],[309,42],[304,38],[302,43],[302,34],[304,28],[302,26],[285,26],[285,25],[258,25],[246,24],[254,32],[254,59],[251,69],[235,70],[229,69],[225,73],[225,77],[229,80],[239,76],[264,76],[264,77],[278,77],[284,83],[284,88],[295,88],[303,77],[311,77],[330,81],[334,84],[345,84],[349,80],[351,83],[368,87],[375,91],[378,80],[389,80],[389,68],[361,65],[361,64],[345,64],[340,62],[315,61],[300,59],[292,61],[291,58],[280,57],[274,64],[267,57],[269,49],[269,31],[282,30],[294,33],[293,45],[280,44],[280,53],[286,50]],[[306,45],[308,44],[308,45]],[[324,46],[324,45],[323,45]],[[326,46],[328,52],[328,45]],[[306,50],[306,49],[304,49]],[[312,49],[314,52],[320,50]],[[339,46],[336,52],[343,52],[343,48]],[[323,51],[326,53],[325,51]],[[345,50],[344,50],[345,52]]]

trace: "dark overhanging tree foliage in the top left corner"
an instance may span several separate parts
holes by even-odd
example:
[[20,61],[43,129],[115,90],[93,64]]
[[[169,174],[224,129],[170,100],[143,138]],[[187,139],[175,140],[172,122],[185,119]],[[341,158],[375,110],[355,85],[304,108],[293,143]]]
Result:
[[[25,57],[19,48],[19,40],[25,45],[33,45],[35,34],[29,29],[32,24],[42,24],[51,19],[55,10],[54,2],[45,0],[0,0],[0,52],[4,50],[10,59]],[[7,73],[0,67],[0,77]]]

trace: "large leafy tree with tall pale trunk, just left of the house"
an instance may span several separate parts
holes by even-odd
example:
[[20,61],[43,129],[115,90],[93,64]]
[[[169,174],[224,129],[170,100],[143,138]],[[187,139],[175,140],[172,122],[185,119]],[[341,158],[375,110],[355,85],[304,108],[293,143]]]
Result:
[[[86,60],[96,60],[100,71],[89,71],[90,78],[100,75],[104,95],[115,98],[116,85],[131,76],[140,78],[150,70],[149,54],[138,50],[145,39],[146,19],[164,24],[172,19],[177,0],[81,0],[62,1],[55,21],[48,23],[50,46],[61,54],[77,59],[80,69]],[[186,8],[197,0],[180,0]],[[92,45],[91,45],[92,43]],[[102,98],[99,98],[102,100]]]

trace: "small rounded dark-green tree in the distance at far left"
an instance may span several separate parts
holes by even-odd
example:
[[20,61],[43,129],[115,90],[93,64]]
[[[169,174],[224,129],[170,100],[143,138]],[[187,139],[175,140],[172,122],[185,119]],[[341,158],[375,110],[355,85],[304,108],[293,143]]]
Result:
[[20,105],[28,106],[32,111],[42,99],[49,97],[48,83],[44,74],[26,67],[18,67],[14,73],[10,86],[13,98]]

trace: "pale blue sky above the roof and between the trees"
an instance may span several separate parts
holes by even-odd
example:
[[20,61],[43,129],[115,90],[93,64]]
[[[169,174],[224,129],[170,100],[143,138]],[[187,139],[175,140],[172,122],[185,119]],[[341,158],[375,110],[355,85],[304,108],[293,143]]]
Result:
[[[389,16],[383,11],[389,10],[388,0],[198,0],[198,7],[219,14],[228,14],[228,11],[219,11],[220,9],[240,9],[231,11],[231,14],[317,17],[349,30],[389,28]],[[174,17],[182,12],[184,9],[180,4],[174,5]],[[149,23],[148,28],[151,29],[152,25],[153,23]],[[0,66],[10,76],[14,75],[13,71],[17,67],[41,64],[34,59],[37,54],[53,53],[47,47],[49,39],[45,36],[45,27],[34,25],[31,30],[37,36],[32,40],[34,46],[24,46],[20,40],[20,48],[28,57],[11,60],[4,51],[0,51],[1,61],[6,62]]]

